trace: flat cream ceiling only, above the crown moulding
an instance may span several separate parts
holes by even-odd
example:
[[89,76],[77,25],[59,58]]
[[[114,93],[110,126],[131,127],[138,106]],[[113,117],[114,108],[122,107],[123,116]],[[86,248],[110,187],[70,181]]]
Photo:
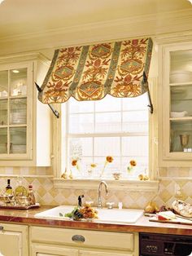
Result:
[[187,0],[4,0],[0,39],[191,8]]

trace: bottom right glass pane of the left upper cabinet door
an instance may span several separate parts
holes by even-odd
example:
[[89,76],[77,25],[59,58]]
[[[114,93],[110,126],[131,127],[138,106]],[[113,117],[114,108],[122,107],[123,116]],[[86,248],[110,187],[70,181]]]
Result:
[[10,128],[11,153],[26,153],[26,127]]

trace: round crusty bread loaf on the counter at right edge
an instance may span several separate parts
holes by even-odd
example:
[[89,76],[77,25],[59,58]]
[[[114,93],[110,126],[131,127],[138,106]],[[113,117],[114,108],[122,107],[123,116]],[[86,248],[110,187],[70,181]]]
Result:
[[172,209],[181,216],[192,218],[192,205],[185,203],[185,201],[173,201]]

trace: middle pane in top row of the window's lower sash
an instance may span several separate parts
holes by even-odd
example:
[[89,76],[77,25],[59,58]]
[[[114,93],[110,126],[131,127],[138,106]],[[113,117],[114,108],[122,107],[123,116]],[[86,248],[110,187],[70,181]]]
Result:
[[95,156],[120,156],[120,137],[94,138]]

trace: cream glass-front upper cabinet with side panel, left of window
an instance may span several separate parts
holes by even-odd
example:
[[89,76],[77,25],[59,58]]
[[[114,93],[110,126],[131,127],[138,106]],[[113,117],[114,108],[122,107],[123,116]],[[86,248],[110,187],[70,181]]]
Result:
[[0,166],[50,166],[50,109],[34,84],[48,68],[42,55],[0,59]]

